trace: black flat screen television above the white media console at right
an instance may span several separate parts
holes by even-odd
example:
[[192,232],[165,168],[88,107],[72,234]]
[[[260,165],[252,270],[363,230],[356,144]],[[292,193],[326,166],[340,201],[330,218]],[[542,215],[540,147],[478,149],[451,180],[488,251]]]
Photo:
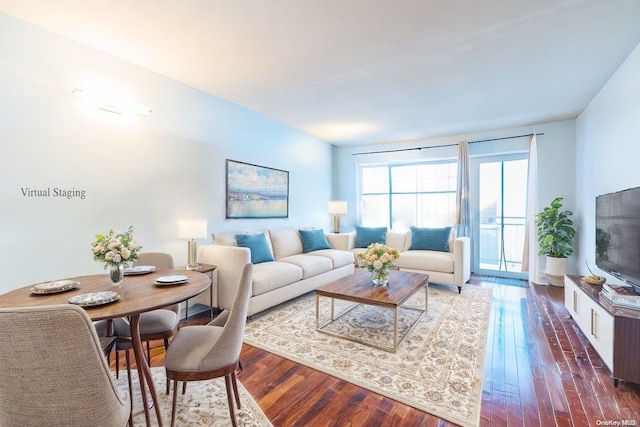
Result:
[[640,291],[640,187],[596,197],[596,265]]

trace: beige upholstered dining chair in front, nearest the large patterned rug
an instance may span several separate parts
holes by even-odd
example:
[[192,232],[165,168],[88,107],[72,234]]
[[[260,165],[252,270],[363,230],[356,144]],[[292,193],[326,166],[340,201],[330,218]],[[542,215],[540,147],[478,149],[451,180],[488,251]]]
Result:
[[173,381],[171,427],[175,425],[179,381],[203,381],[224,377],[231,423],[236,426],[233,395],[240,409],[236,369],[247,321],[253,264],[242,269],[233,305],[224,326],[212,321],[208,325],[185,326],[173,338],[164,365],[167,378]]

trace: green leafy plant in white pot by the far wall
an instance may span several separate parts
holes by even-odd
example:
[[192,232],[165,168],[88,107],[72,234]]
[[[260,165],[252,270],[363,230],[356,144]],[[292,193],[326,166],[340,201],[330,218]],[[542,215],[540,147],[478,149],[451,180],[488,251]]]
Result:
[[562,208],[562,197],[556,197],[551,205],[536,214],[538,231],[538,255],[546,256],[545,274],[549,284],[564,286],[567,273],[567,257],[573,253],[573,238],[576,234],[571,216],[573,212]]

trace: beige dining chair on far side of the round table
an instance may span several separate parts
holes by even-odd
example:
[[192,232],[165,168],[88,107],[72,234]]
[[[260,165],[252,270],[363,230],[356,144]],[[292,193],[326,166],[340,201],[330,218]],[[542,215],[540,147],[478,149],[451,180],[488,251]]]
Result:
[[[156,268],[174,268],[173,257],[163,252],[145,252],[138,256],[138,260],[133,264],[136,265],[152,265]],[[166,308],[142,313],[140,315],[140,339],[146,343],[147,347],[147,364],[151,365],[151,348],[150,342],[153,340],[163,340],[165,351],[169,348],[169,338],[171,338],[178,330],[180,324],[180,304],[173,304]],[[116,341],[116,376],[120,371],[120,358],[118,350],[127,352],[132,348],[131,345],[131,325],[124,318],[118,318],[113,321],[113,334],[118,337]],[[129,361],[127,360],[127,366]],[[167,380],[167,390],[169,394],[169,381]]]

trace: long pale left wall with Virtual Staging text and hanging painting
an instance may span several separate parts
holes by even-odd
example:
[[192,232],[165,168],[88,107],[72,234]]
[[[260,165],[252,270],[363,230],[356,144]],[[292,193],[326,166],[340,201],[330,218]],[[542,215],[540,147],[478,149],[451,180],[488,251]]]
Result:
[[[153,114],[118,116],[72,96],[98,81]],[[3,14],[0,147],[0,293],[103,272],[90,244],[110,228],[133,225],[145,251],[184,264],[180,219],[206,219],[209,232],[331,227],[332,145]],[[289,218],[226,220],[225,159],[289,171]]]

